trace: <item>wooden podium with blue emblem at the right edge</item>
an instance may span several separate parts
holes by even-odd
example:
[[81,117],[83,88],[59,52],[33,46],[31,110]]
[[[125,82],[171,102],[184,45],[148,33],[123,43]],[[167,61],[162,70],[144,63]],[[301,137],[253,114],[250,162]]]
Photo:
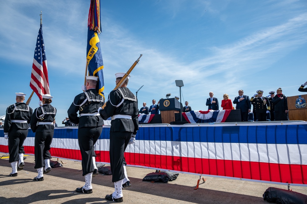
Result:
[[289,96],[288,109],[290,121],[307,121],[307,94],[298,96]]

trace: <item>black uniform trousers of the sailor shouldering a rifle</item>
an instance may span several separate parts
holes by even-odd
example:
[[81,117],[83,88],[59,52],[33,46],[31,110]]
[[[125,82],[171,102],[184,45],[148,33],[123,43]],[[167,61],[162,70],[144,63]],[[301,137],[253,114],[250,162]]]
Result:
[[123,165],[127,164],[124,152],[128,146],[133,132],[110,132],[110,165],[112,171],[112,182],[125,178]]

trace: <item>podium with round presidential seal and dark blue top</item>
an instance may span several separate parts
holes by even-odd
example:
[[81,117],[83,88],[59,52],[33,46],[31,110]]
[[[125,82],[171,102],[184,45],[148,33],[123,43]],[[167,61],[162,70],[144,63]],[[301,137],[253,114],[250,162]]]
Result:
[[175,121],[175,113],[180,112],[180,102],[175,98],[160,99],[159,110],[162,123]]

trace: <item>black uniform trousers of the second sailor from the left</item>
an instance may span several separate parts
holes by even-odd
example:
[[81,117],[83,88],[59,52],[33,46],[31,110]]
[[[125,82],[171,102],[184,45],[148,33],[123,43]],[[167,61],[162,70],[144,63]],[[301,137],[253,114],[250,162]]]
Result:
[[35,132],[34,141],[34,156],[35,156],[35,169],[45,166],[45,159],[51,159],[49,152],[50,145],[53,138],[52,132]]

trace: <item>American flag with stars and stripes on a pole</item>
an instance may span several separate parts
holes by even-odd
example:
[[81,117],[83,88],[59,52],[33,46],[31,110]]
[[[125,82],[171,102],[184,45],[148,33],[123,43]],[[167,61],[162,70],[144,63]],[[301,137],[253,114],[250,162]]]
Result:
[[43,99],[42,94],[50,94],[42,24],[37,35],[30,87],[40,100]]

